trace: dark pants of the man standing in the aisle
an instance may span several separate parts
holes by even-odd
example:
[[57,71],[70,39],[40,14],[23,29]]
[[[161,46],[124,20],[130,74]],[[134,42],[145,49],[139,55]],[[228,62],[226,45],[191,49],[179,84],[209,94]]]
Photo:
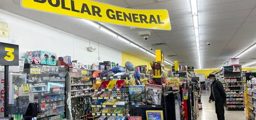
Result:
[[225,120],[224,116],[224,100],[215,101],[215,112],[217,114],[218,120]]

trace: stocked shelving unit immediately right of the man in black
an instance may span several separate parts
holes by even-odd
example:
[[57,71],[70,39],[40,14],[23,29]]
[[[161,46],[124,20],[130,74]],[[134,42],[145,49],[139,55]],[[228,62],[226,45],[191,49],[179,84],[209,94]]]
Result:
[[227,95],[225,108],[229,111],[244,111],[243,78],[241,72],[233,71],[234,67],[240,66],[224,66],[221,78]]

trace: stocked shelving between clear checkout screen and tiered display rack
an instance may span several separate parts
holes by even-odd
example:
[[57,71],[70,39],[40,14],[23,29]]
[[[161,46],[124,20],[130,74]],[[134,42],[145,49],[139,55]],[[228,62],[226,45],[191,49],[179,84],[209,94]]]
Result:
[[[90,90],[93,85],[90,79],[92,73],[96,70],[69,68],[69,87],[68,93],[71,96],[71,113],[73,120],[86,120],[91,109],[90,106]],[[71,116],[68,116],[69,120]]]

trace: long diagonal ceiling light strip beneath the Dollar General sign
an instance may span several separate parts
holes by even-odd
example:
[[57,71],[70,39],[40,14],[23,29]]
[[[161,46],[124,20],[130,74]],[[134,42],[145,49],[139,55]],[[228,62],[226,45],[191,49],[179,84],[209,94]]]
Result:
[[[133,47],[136,47],[136,48],[140,49],[141,51],[144,51],[144,52],[146,52],[147,54],[149,54],[149,55],[155,57],[155,54],[152,54],[150,51],[147,51],[147,50],[144,49],[143,47],[139,47],[139,46],[137,46],[136,44],[129,42],[128,40],[124,39],[123,37],[118,36],[117,34],[114,34],[114,33],[111,32],[110,30],[107,30],[107,29],[105,29],[104,27],[101,27],[100,25],[96,24],[95,22],[89,21],[89,20],[85,20],[85,19],[82,19],[82,20],[85,21],[85,22],[87,22],[88,24],[90,24],[90,25],[92,25],[92,26],[95,26],[95,27],[97,27],[97,28],[103,30],[104,32],[106,32],[106,33],[108,33],[108,34],[110,34],[110,35],[112,35],[112,36],[114,36],[114,37],[119,38],[119,39],[122,40],[123,42],[128,43],[128,44],[132,45]],[[166,61],[166,60],[165,60],[165,62],[167,62],[168,64],[173,65],[172,63],[170,63],[170,62],[168,62],[168,61]]]

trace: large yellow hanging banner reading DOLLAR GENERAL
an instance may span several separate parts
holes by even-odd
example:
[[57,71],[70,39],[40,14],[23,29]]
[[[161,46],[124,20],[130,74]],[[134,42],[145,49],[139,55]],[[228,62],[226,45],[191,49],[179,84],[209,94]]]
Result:
[[166,9],[127,9],[92,0],[21,0],[22,6],[121,26],[171,30]]

